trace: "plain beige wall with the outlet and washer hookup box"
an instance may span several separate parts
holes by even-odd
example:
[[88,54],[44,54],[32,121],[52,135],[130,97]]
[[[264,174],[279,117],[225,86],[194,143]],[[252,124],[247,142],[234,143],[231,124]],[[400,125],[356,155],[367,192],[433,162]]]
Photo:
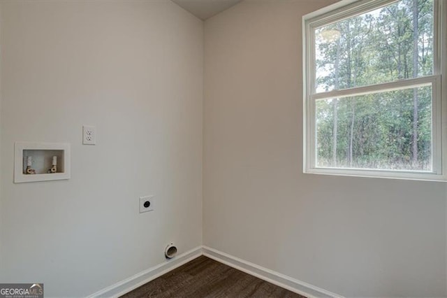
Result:
[[[1,1],[1,83],[2,283],[85,297],[201,245],[203,22],[171,1]],[[71,143],[71,179],[14,184],[15,141]]]

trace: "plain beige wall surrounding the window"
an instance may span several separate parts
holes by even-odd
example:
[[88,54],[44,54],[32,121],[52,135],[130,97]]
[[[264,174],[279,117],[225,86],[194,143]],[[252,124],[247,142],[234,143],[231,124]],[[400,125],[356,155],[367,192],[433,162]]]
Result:
[[204,245],[349,297],[446,294],[443,183],[302,173],[302,15],[205,21]]

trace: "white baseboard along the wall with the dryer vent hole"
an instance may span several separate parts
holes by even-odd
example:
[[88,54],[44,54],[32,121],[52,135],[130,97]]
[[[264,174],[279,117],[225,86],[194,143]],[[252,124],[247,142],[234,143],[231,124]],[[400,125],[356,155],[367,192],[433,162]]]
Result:
[[98,292],[91,294],[87,298],[94,297],[119,297],[121,295],[134,290],[153,279],[162,276],[163,274],[168,273],[169,271],[186,264],[187,262],[196,259],[196,257],[200,257],[202,255],[202,247],[198,246],[197,248],[193,248],[192,250],[187,251],[186,253],[182,253],[181,255],[177,255],[173,257],[171,260],[167,260],[161,264],[158,264],[154,267],[151,267],[145,271],[141,271],[134,276],[124,279],[123,281],[119,281],[115,283],[115,285],[110,285],[103,290],[99,290]]

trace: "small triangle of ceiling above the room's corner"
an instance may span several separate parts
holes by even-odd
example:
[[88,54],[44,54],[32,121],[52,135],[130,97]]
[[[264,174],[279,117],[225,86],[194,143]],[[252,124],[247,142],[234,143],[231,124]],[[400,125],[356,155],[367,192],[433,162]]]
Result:
[[173,0],[200,20],[217,15],[242,0]]

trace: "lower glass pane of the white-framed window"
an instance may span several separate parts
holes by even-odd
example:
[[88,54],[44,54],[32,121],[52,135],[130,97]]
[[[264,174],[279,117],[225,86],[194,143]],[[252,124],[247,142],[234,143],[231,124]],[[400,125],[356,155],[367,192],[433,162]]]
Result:
[[317,100],[316,150],[319,167],[432,171],[432,86]]

